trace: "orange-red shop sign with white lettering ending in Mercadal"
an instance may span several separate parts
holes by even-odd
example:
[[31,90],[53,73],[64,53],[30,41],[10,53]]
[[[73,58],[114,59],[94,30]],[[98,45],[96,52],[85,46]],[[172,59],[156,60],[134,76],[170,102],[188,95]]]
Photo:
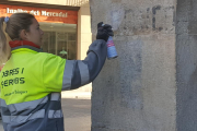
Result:
[[34,14],[38,22],[78,24],[78,11],[0,4],[0,16],[20,12]]

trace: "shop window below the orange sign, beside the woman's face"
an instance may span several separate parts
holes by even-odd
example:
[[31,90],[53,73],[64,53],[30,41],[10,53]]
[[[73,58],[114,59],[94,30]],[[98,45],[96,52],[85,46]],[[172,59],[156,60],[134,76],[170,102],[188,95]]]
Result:
[[43,51],[77,59],[77,25],[63,23],[39,23],[44,32]]

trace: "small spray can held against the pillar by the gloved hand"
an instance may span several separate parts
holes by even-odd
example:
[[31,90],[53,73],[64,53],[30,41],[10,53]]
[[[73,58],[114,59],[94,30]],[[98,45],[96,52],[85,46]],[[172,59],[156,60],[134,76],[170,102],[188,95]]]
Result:
[[[105,24],[102,24],[102,26],[104,26],[104,25]],[[107,44],[107,59],[117,58],[118,55],[117,55],[116,47],[114,45],[114,40],[113,40],[112,36],[108,37],[108,40],[106,44]]]

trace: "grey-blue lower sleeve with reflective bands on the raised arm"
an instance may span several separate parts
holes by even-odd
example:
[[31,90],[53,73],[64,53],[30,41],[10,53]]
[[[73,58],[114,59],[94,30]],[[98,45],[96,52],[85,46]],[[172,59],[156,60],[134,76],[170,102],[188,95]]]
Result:
[[103,68],[106,53],[106,41],[97,39],[89,47],[84,60],[67,60],[62,90],[74,90],[92,82]]

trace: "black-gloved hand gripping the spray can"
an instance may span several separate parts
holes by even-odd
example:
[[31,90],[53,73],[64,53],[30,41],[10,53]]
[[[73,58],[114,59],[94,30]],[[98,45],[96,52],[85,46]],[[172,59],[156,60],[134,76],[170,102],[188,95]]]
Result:
[[112,29],[112,26],[108,24],[105,24],[104,26],[103,22],[100,22],[97,24],[97,35],[96,35],[96,39],[103,39],[105,41],[107,41],[109,36],[114,36],[114,32]]

